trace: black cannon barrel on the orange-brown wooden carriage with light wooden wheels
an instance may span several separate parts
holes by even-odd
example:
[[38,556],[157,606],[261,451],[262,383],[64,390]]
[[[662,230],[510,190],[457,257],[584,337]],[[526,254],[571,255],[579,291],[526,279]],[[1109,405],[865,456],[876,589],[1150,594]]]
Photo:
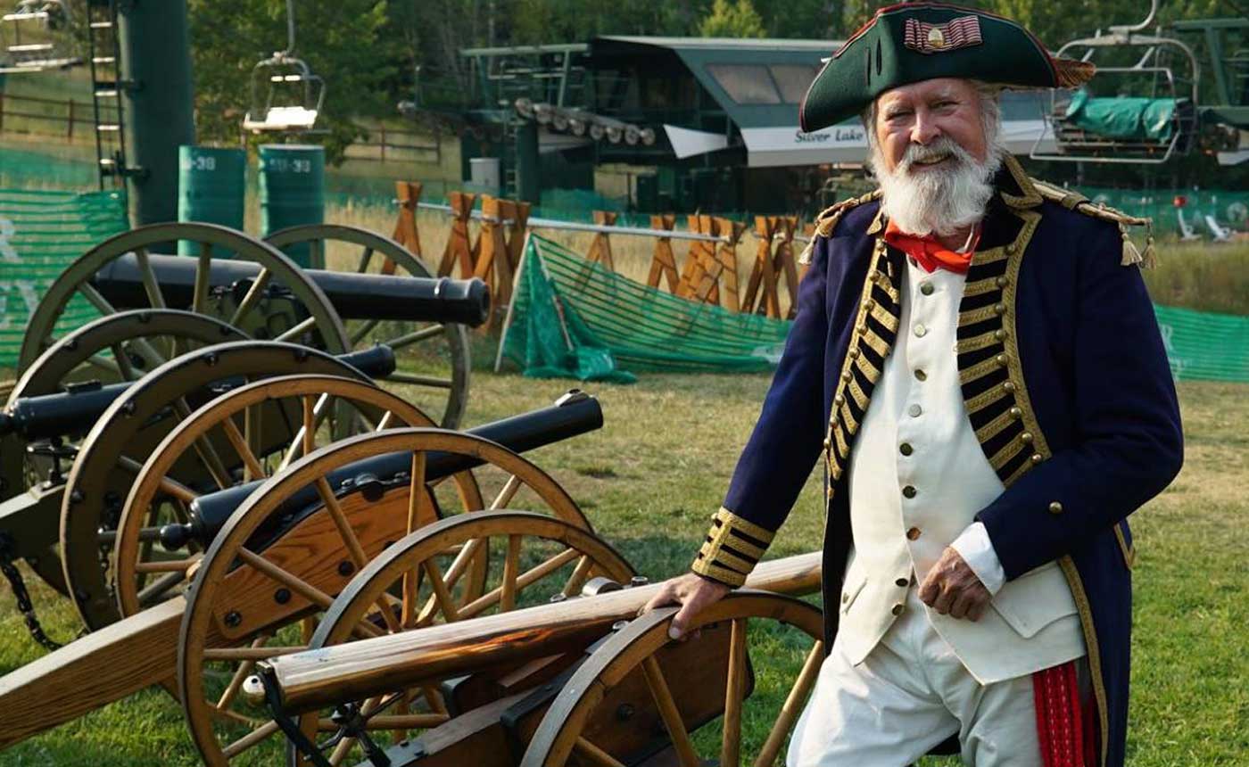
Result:
[[[513,452],[525,452],[595,431],[602,425],[603,411],[598,400],[582,391],[572,390],[560,397],[551,407],[483,423],[467,430],[467,432],[497,442]],[[482,461],[472,456],[431,451],[426,457],[425,475],[427,481],[432,482],[481,465]],[[363,490],[366,485],[377,482],[385,485],[392,477],[406,476],[411,468],[411,452],[392,452],[348,463],[330,472],[326,480],[336,495],[341,496]],[[217,531],[230,520],[230,515],[261,483],[264,480],[200,496],[191,502],[191,522],[164,527],[161,541],[167,548],[180,548],[192,538],[207,546]],[[307,487],[287,498],[282,508],[271,518],[275,520],[275,525],[285,527],[292,523],[301,512],[317,506],[320,506],[320,497],[316,488]],[[265,531],[261,530],[259,535],[264,536]],[[270,528],[269,536],[271,535],[272,530]]]

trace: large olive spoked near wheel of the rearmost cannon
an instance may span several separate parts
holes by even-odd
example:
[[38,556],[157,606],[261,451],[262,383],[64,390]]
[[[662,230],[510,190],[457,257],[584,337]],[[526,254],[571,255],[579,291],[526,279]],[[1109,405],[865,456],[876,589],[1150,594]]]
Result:
[[[189,291],[190,295],[184,296],[185,301],[180,299],[176,304],[172,294],[166,300],[149,252],[151,247],[175,241],[196,244],[199,251],[199,255],[194,256],[196,262],[194,289]],[[212,290],[212,265],[226,256],[226,262],[251,261],[260,266],[246,295],[237,304],[232,300],[224,302],[222,296]],[[140,291],[141,295],[132,296],[137,305],[120,309],[184,309],[217,316],[230,326],[239,327],[255,337],[269,335],[279,341],[309,341],[332,354],[348,351],[347,331],[326,295],[294,261],[272,245],[214,224],[152,224],[105,240],[61,272],[30,316],[19,355],[19,370],[25,370],[56,341],[59,321],[71,301],[81,309],[92,306],[102,315],[117,314],[119,307],[96,287],[95,277],[97,272],[122,257],[135,260],[144,290]],[[191,259],[192,256],[187,256],[187,260]],[[295,319],[292,315],[294,321],[277,334],[271,332],[279,329],[265,316],[267,295],[274,289],[289,291],[300,305],[300,314],[306,312],[304,319]]]

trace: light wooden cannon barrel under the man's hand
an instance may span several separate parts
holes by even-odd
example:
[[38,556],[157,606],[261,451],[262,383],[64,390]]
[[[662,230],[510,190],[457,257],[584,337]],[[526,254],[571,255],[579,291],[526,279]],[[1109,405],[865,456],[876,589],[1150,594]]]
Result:
[[[762,562],[747,588],[791,596],[819,588],[818,551]],[[287,713],[437,683],[483,668],[571,652],[637,616],[659,583],[296,652],[257,665]]]

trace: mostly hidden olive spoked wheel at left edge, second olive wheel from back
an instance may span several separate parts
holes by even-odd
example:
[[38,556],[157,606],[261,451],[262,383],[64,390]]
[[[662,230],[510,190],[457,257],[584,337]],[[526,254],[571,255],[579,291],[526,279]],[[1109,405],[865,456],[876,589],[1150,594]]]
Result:
[[[242,332],[225,322],[186,311],[117,312],[84,325],[39,355],[17,379],[6,405],[89,381],[102,385],[134,381],[175,352],[244,339]],[[79,436],[47,440],[40,445],[42,450],[35,451],[27,451],[27,443],[16,435],[0,437],[0,500],[35,482],[55,481],[56,465],[72,455]],[[27,557],[26,562],[52,588],[67,595],[56,541],[46,543],[46,553]]]

